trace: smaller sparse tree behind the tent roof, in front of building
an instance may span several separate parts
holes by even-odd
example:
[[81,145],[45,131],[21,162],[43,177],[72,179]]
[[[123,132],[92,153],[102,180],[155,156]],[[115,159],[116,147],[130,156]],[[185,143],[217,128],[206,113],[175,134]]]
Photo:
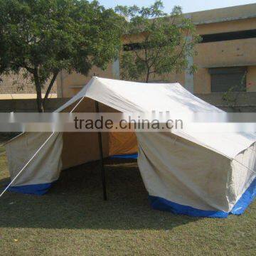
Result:
[[[194,55],[194,46],[200,40],[189,18],[183,16],[181,7],[175,6],[171,14],[162,9],[162,1],[149,7],[117,6],[115,11],[129,18],[124,39],[129,44],[121,55],[123,79],[149,82],[151,75],[181,72],[188,68],[187,57]],[[138,41],[133,38],[140,35]],[[195,66],[189,67],[191,72]]]

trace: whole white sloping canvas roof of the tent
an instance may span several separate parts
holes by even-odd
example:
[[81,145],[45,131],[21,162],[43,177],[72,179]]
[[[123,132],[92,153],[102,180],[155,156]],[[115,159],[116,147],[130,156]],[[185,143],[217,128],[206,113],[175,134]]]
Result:
[[[83,97],[97,100],[120,112],[223,112],[191,94],[179,83],[128,82],[97,77],[93,77],[77,95],[56,112],[65,110]],[[174,130],[173,133],[230,159],[256,141],[255,134],[242,132]]]

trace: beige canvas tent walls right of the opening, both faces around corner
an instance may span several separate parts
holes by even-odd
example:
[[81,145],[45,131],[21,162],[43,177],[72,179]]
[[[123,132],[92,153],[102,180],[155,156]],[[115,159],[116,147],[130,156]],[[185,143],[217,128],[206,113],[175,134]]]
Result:
[[139,169],[153,208],[226,218],[242,214],[255,198],[256,143],[229,159],[174,134],[137,137]]

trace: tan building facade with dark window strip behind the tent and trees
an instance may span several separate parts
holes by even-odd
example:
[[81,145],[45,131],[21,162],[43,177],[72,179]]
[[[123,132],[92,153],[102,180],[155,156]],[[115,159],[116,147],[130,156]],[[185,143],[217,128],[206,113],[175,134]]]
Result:
[[[166,74],[151,82],[180,82],[193,93],[256,92],[256,4],[185,15],[191,18],[202,37],[196,45],[197,54],[188,59],[198,71]],[[57,80],[58,97],[72,97],[92,75],[119,79],[119,60],[105,71],[92,68],[87,76],[63,71]]]

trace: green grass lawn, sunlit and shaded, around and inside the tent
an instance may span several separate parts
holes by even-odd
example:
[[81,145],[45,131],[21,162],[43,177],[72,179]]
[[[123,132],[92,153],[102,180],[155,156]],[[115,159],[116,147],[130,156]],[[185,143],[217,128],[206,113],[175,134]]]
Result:
[[[0,148],[0,151],[3,149]],[[63,171],[45,196],[0,198],[0,255],[256,255],[256,202],[242,216],[191,218],[152,210],[137,164]],[[0,188],[9,181],[0,156]]]

